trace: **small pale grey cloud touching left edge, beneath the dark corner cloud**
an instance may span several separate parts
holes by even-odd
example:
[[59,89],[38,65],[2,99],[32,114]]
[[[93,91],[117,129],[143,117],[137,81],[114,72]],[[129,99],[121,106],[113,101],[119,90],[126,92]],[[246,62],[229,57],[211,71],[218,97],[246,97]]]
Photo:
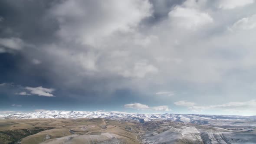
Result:
[[25,43],[20,38],[0,38],[0,46],[3,46],[8,49],[20,50],[25,46]]

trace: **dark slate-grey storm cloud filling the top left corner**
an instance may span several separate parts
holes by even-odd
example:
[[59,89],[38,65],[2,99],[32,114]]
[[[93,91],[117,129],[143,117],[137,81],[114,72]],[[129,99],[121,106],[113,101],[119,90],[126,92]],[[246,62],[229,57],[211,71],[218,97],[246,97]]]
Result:
[[47,9],[57,0],[1,0],[1,37],[20,37],[27,43],[46,43],[54,40],[58,25],[46,19]]

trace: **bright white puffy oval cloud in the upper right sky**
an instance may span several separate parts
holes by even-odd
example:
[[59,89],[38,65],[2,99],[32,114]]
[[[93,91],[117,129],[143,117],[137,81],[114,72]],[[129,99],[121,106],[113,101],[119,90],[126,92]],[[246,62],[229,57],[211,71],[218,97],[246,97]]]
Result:
[[199,26],[213,23],[213,18],[200,10],[190,7],[176,6],[168,13],[174,26],[182,26],[187,29],[197,29]]

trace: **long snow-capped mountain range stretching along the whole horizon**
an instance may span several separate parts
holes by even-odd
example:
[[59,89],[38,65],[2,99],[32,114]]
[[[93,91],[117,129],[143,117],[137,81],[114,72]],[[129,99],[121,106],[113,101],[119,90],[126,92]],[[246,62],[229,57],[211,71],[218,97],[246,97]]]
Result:
[[15,114],[0,115],[5,119],[24,119],[24,118],[106,118],[114,120],[136,120],[140,122],[151,120],[171,120],[181,122],[201,123],[214,119],[253,119],[255,116],[232,116],[232,115],[181,115],[181,114],[135,114],[120,111],[36,111],[18,112]]

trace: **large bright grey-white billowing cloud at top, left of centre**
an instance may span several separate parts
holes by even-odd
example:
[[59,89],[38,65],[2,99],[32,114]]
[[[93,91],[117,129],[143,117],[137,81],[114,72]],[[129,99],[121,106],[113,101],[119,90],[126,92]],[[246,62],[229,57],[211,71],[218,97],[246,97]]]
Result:
[[151,8],[148,0],[66,0],[52,7],[49,14],[59,23],[60,37],[98,47],[115,32],[134,31],[142,19],[151,16]]

